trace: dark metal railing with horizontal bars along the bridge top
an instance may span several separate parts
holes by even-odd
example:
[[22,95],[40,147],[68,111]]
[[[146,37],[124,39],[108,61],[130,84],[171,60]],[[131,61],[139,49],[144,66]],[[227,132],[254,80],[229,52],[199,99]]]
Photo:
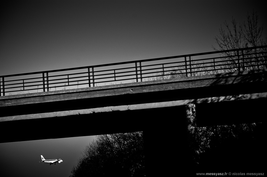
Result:
[[[267,45],[0,76],[0,95],[265,69]],[[15,92],[15,93],[14,93]]]

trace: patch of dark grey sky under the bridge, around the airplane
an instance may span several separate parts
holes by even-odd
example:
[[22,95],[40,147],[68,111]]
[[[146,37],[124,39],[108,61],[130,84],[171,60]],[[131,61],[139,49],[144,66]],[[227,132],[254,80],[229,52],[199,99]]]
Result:
[[[59,131],[64,131],[64,126],[62,126],[62,130],[59,128]],[[0,143],[0,176],[69,176],[72,167],[81,156],[80,153],[94,138],[95,136],[86,136]],[[41,155],[45,159],[62,159],[63,162],[56,165],[39,163]]]

